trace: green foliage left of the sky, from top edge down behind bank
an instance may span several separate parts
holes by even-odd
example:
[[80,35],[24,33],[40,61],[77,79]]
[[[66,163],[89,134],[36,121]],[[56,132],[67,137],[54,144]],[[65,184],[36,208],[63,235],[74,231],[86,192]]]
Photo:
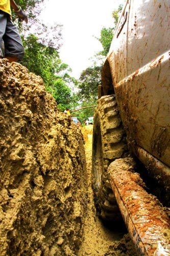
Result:
[[[26,66],[30,72],[41,76],[46,90],[53,95],[59,108],[64,110],[66,106],[71,105],[72,98],[75,98],[69,84],[73,87],[77,80],[70,77],[71,69],[59,57],[58,50],[62,45],[62,26],[54,24],[47,27],[38,19],[43,1],[16,0],[16,3],[26,11],[29,17],[28,26],[24,22],[18,22],[18,18],[13,13],[13,19],[15,23],[18,23],[25,47],[25,57],[21,64]],[[29,32],[30,28],[32,33]]]

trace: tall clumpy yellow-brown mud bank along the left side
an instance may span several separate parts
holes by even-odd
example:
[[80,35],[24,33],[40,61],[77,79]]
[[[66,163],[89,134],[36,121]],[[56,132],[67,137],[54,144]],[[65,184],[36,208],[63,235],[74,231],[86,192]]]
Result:
[[40,77],[0,60],[0,255],[75,255],[86,214],[83,137]]

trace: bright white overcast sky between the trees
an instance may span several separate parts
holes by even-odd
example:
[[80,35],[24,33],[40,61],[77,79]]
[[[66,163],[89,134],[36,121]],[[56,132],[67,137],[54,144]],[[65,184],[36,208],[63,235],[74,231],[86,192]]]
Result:
[[72,69],[71,76],[79,78],[91,66],[89,58],[102,50],[100,37],[103,27],[113,27],[112,11],[125,0],[45,0],[42,17],[47,23],[63,25],[63,46],[60,58]]

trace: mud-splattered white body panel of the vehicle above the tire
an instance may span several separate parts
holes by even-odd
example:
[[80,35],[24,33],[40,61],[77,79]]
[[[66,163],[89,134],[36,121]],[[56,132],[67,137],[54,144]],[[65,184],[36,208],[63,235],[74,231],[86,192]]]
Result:
[[[170,166],[170,2],[127,1],[102,80],[112,81],[128,140]],[[106,72],[106,69],[110,69]]]

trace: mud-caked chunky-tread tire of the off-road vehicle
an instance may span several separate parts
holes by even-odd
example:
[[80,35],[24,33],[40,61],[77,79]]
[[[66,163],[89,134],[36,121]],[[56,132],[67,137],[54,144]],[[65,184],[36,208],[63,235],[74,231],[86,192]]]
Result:
[[115,95],[98,100],[93,124],[92,174],[94,202],[105,220],[118,221],[122,217],[107,177],[109,164],[128,154],[126,136],[119,115]]

